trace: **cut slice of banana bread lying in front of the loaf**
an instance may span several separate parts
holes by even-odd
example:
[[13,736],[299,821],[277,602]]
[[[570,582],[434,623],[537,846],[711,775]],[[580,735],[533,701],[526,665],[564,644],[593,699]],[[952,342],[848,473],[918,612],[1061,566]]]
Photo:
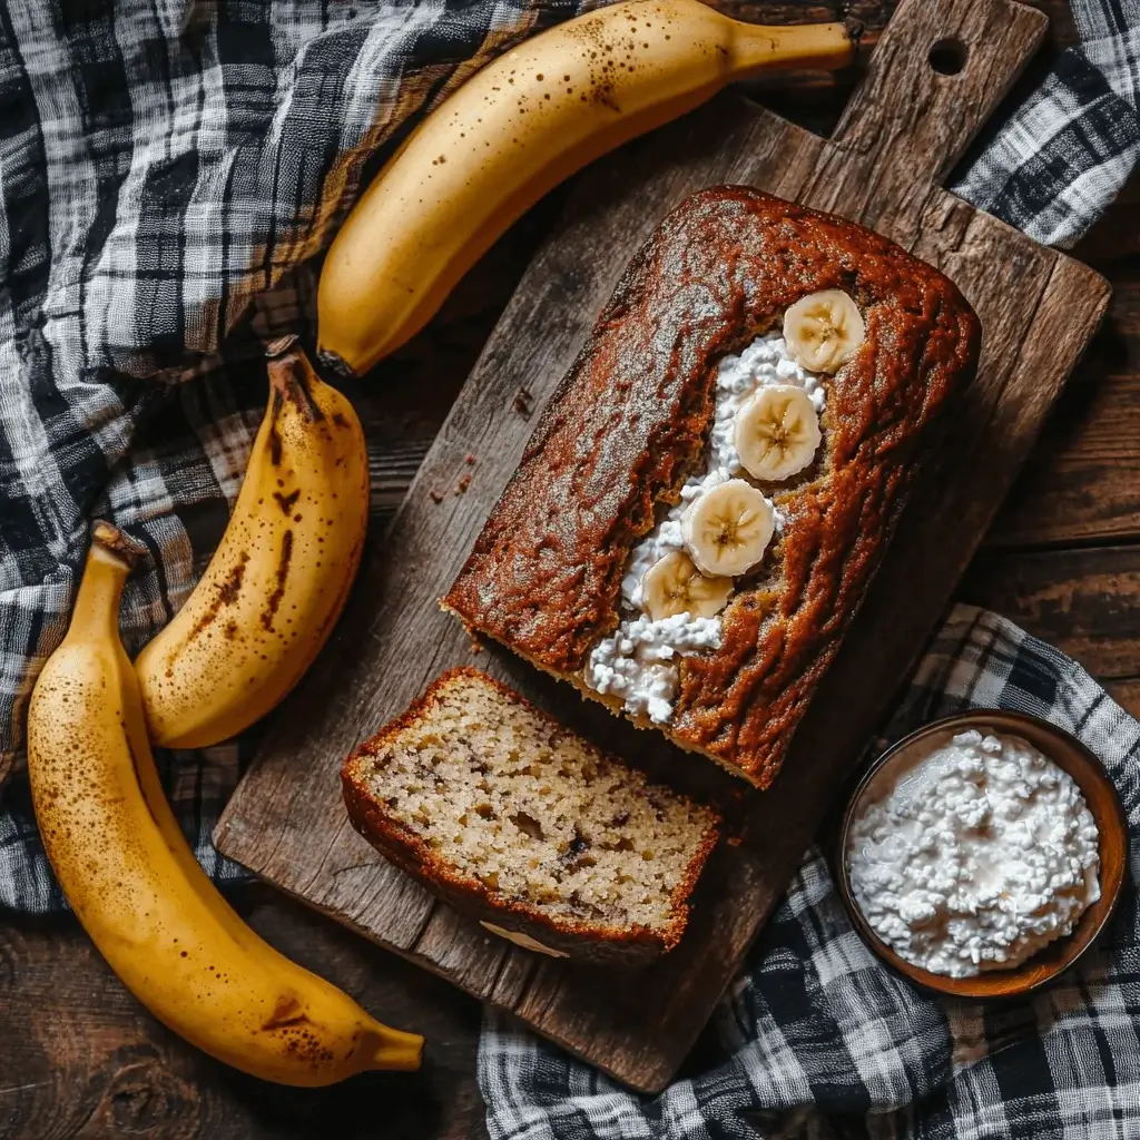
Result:
[[488,929],[531,950],[671,950],[715,812],[650,783],[477,669],[439,677],[342,769],[353,826]]

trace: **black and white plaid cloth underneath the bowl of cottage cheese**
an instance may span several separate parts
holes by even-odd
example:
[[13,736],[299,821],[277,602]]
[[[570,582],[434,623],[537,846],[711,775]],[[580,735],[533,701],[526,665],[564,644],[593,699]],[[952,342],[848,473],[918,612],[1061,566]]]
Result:
[[[1140,724],[1074,661],[958,606],[886,740],[969,708],[1044,717],[1108,769],[1140,828]],[[640,1097],[488,1009],[479,1083],[495,1140],[1134,1140],[1140,1137],[1140,862],[1102,940],[1031,999],[938,1000],[853,929],[819,850],[714,1018],[719,1065]],[[836,1131],[841,1122],[844,1132]]]

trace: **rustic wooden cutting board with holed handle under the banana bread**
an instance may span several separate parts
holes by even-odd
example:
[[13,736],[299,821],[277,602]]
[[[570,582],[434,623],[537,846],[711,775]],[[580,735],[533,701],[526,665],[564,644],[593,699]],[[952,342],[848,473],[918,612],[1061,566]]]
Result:
[[[620,1080],[646,1091],[668,1082],[913,665],[1104,314],[1108,286],[1097,274],[939,185],[1045,23],[1011,0],[904,0],[834,139],[727,95],[578,180],[390,530],[370,536],[347,616],[277,715],[218,825],[221,850]],[[866,603],[783,772],[763,793],[746,792],[714,765],[636,732],[510,654],[474,653],[437,606],[627,261],[677,202],[719,182],[757,186],[886,234],[948,274],[984,329],[977,381],[931,445]],[[349,826],[342,757],[461,663],[507,679],[603,747],[727,807],[747,841],[717,853],[674,953],[620,971],[519,950],[435,902]]]

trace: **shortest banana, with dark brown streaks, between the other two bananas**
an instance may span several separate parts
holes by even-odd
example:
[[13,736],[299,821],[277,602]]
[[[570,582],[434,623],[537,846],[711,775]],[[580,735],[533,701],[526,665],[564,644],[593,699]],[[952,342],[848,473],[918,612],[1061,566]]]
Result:
[[360,564],[360,422],[299,348],[276,352],[269,407],[221,544],[135,662],[156,744],[215,744],[264,716],[325,643]]

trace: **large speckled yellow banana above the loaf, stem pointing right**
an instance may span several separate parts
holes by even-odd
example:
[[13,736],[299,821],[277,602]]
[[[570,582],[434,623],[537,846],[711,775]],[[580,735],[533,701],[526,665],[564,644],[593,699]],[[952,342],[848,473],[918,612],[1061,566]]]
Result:
[[766,27],[700,0],[630,0],[520,44],[437,107],[328,251],[321,360],[363,373],[434,315],[526,210],[586,163],[765,68],[848,64],[842,24]]

